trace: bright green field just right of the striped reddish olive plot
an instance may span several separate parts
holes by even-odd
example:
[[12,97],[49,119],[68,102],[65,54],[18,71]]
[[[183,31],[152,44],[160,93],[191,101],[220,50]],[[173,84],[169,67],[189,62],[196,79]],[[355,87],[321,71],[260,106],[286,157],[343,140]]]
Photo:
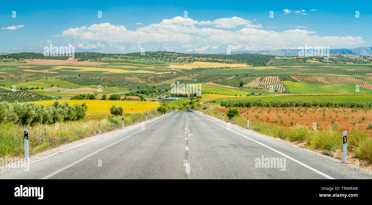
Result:
[[[304,82],[280,81],[291,93],[298,94],[358,94],[354,84],[332,84],[315,86]],[[359,94],[372,94],[372,90],[359,88]]]

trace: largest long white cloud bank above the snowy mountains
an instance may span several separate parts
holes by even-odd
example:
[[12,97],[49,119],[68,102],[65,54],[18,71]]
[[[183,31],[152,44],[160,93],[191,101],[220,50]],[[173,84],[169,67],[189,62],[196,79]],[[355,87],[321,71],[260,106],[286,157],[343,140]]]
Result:
[[[243,28],[236,29],[241,25]],[[283,45],[357,45],[364,41],[352,36],[319,36],[316,31],[294,29],[274,32],[260,29],[250,20],[240,17],[221,18],[211,21],[198,21],[181,16],[164,19],[141,28],[128,30],[125,26],[110,23],[93,24],[64,30],[60,36],[73,36],[85,40],[105,40],[108,42],[144,43],[156,42],[218,42],[246,41],[251,43]],[[272,28],[271,26],[266,26]],[[301,28],[304,26],[298,26]]]

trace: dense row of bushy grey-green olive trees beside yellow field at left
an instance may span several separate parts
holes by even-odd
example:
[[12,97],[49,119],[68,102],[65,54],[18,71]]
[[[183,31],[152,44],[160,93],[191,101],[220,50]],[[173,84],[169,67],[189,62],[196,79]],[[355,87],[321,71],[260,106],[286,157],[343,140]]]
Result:
[[33,103],[0,102],[0,123],[16,123],[22,125],[34,125],[37,123],[52,124],[62,121],[74,121],[84,118],[88,106],[69,105],[67,102],[61,104],[55,101],[53,104],[44,106]]

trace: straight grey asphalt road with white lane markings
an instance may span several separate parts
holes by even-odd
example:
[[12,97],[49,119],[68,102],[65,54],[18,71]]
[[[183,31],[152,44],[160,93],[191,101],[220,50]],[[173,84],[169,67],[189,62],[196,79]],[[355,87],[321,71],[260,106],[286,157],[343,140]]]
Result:
[[171,113],[0,179],[372,179],[282,141],[228,127],[195,112]]

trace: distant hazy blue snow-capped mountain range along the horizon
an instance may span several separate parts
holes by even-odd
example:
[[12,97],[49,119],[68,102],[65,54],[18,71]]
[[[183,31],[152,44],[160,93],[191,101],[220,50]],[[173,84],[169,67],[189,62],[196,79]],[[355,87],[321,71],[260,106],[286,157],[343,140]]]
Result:
[[[107,43],[102,41],[75,41],[75,42],[51,42],[36,48],[0,48],[0,53],[19,52],[44,52],[44,46],[74,46],[75,52],[97,52],[97,53],[133,53],[147,51],[171,51],[179,53],[200,53],[200,54],[225,54],[230,48],[231,54],[255,53],[276,56],[297,56],[299,46],[286,46],[279,44],[255,44],[249,42],[230,42],[228,44],[179,44],[174,42],[149,41],[141,44],[117,42]],[[359,56],[372,56],[372,46],[357,47],[352,49],[330,49],[330,54],[348,54]]]

